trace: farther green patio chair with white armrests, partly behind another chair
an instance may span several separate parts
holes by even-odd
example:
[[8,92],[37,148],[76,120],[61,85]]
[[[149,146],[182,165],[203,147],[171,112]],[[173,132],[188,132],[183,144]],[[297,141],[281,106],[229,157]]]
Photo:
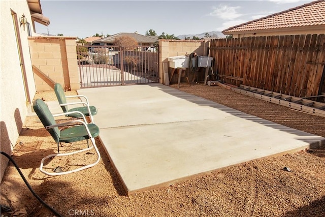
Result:
[[[97,108],[89,105],[87,97],[85,97],[83,95],[66,96],[64,94],[64,90],[63,90],[61,84],[59,84],[59,83],[56,83],[54,85],[54,91],[55,91],[56,98],[59,101],[59,104],[60,104],[63,112],[79,111],[82,114],[84,114],[85,116],[89,116],[91,122],[93,123],[92,116],[97,114]],[[86,100],[86,102],[67,103],[67,98],[75,98],[75,97],[84,98]],[[68,109],[68,105],[77,105],[77,104],[83,104],[83,106]],[[72,113],[72,114],[68,114],[67,116],[74,117],[74,118],[82,117],[79,113]]]

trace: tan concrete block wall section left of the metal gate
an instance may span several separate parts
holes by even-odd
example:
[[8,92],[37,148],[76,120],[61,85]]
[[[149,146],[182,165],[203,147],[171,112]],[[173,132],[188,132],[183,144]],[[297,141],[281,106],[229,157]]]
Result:
[[36,91],[53,90],[47,79],[63,87],[80,89],[75,37],[29,37],[31,64],[43,75],[34,73]]

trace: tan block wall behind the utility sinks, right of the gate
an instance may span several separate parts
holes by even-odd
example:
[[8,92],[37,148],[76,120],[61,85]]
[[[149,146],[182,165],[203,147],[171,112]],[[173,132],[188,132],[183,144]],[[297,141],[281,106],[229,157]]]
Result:
[[206,42],[204,40],[159,40],[160,83],[165,84],[163,63],[168,63],[168,57],[189,55],[192,52],[196,52],[200,56],[209,56],[209,43],[210,42]]

